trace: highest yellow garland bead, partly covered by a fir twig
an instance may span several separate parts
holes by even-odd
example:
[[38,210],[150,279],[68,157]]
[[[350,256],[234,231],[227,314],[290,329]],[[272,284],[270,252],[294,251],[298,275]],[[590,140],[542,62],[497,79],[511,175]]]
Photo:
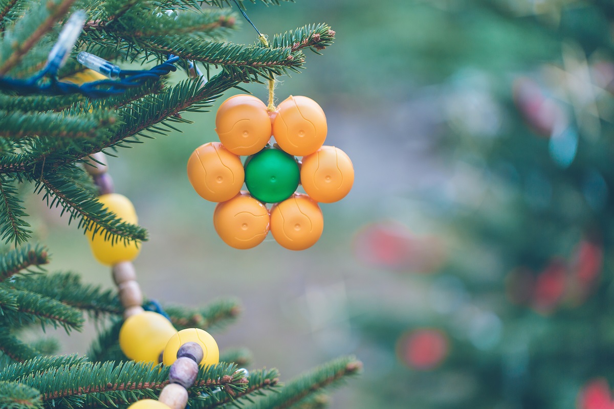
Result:
[[[128,197],[122,194],[109,193],[98,196],[98,201],[104,205],[104,208],[115,213],[122,221],[132,224],[138,223],[134,205]],[[104,240],[105,233],[105,229],[99,229],[93,237],[91,232],[87,233],[91,251],[102,264],[112,266],[122,261],[133,261],[139,255],[141,251],[140,243],[134,240],[124,243],[121,239],[113,243],[110,239]]]

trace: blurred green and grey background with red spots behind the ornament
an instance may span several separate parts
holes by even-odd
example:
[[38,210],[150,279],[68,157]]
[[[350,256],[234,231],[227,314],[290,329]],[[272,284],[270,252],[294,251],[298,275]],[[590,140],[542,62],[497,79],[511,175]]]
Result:
[[[109,161],[149,229],[135,263],[146,295],[237,297],[243,314],[217,342],[285,379],[357,354],[364,373],[332,407],[601,408],[581,390],[614,377],[612,3],[298,0],[247,13],[265,34],[336,31],[276,96],[322,106],[326,143],[348,153],[356,182],[322,205],[313,248],[270,236],[234,250],[185,174],[190,153],[217,140],[214,113],[231,93],[186,114],[195,123],[182,133]],[[231,40],[255,32],[243,21]],[[246,88],[266,99],[264,85]],[[81,232],[39,200],[29,208],[50,269],[111,287]],[[435,332],[408,341],[421,329]],[[84,353],[91,338],[63,337],[63,350]]]

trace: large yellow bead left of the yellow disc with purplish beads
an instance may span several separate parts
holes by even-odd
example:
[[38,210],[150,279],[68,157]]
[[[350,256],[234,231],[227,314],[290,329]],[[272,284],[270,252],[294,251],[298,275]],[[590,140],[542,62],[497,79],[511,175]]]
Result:
[[119,331],[119,346],[133,361],[159,364],[160,353],[175,334],[177,330],[171,321],[163,315],[146,311],[126,318]]

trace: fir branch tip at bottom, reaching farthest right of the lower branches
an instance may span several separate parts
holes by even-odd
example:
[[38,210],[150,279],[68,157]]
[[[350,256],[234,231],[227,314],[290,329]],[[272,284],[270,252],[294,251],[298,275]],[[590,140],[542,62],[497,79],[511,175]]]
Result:
[[311,372],[305,373],[290,381],[279,394],[271,394],[258,400],[252,409],[283,409],[292,407],[295,403],[310,396],[322,388],[338,383],[338,381],[360,372],[362,363],[354,357],[341,357],[335,361],[321,365]]

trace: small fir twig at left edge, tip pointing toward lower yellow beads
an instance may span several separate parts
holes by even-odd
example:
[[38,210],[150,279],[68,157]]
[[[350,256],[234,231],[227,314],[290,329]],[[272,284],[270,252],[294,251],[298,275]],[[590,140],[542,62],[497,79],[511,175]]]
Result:
[[12,288],[17,300],[16,310],[7,310],[0,316],[0,323],[6,326],[23,326],[39,322],[41,325],[52,324],[63,327],[64,331],[80,330],[84,319],[81,312],[58,300],[36,294],[36,292]]

